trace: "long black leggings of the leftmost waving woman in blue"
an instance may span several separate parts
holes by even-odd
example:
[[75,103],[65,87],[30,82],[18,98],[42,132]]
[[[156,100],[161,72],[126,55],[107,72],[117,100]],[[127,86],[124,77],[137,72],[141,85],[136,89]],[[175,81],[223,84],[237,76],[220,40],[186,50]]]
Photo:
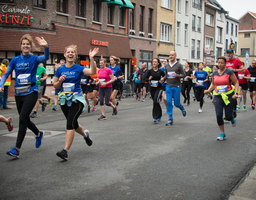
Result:
[[36,101],[38,98],[38,92],[32,92],[28,95],[15,96],[16,106],[19,113],[19,131],[16,141],[16,147],[21,148],[22,142],[25,138],[27,127],[30,129],[35,135],[39,133],[36,125],[30,121],[30,113],[36,105]]

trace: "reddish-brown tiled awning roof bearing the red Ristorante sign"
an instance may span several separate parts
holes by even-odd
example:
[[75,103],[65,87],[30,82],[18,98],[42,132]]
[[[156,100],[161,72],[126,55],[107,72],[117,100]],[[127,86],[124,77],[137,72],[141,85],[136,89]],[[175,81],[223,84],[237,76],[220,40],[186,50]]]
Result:
[[[98,54],[102,54],[103,57],[115,55],[119,58],[132,58],[129,37],[126,35],[103,33],[97,30],[59,24],[55,24],[55,32],[0,29],[0,35],[5,35],[5,37],[0,37],[0,49],[4,51],[21,51],[20,38],[25,34],[30,34],[33,38],[36,36],[44,37],[50,45],[51,53],[63,53],[66,46],[74,44],[77,45],[77,53],[79,55],[88,55],[90,49],[99,47]],[[109,42],[109,46],[92,45],[93,39]],[[42,47],[40,50],[44,51]]]

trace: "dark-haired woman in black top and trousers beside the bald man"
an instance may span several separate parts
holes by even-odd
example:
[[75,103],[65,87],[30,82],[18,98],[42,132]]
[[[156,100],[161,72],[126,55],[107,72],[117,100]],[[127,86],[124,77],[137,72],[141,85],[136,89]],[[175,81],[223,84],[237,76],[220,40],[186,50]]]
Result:
[[148,71],[146,81],[150,81],[150,94],[153,100],[153,122],[158,123],[161,121],[162,117],[162,108],[159,103],[159,99],[163,92],[161,78],[164,77],[165,74],[163,70],[159,69],[162,65],[158,58],[153,59],[152,66],[153,68]]

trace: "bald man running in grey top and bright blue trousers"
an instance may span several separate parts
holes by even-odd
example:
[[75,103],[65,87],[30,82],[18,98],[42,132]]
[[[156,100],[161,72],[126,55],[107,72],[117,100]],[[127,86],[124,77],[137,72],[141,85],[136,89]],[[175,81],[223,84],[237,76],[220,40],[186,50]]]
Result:
[[173,124],[173,102],[174,106],[179,108],[182,115],[185,117],[187,111],[180,103],[180,78],[185,78],[185,71],[180,62],[176,60],[177,54],[175,51],[171,51],[169,58],[170,62],[165,65],[165,76],[161,79],[162,83],[167,79],[166,89],[166,100],[167,100],[167,113],[169,114],[169,119],[166,125]]

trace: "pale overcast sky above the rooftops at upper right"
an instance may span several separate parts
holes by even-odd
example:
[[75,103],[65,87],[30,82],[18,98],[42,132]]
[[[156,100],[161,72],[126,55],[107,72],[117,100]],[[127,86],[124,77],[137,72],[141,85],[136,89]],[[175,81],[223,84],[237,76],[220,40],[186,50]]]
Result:
[[256,13],[256,0],[217,0],[229,12],[229,17],[239,19],[247,11]]

